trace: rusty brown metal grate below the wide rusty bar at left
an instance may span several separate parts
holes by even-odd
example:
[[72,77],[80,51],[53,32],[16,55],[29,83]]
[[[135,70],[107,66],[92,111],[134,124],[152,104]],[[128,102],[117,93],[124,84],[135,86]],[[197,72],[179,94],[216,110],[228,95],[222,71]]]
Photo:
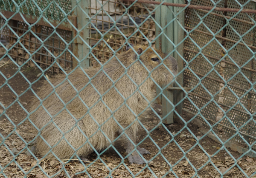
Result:
[[[70,52],[66,51],[66,44],[63,42],[61,38],[63,38],[66,42],[70,42],[72,40],[72,31],[66,31],[61,29],[56,29],[56,32],[53,28],[43,26],[43,25],[35,25],[31,29],[34,33],[26,33],[20,41],[23,46],[30,53],[34,53],[32,57],[26,52],[26,50],[17,42],[18,37],[13,34],[13,32],[5,25],[5,20],[1,19],[1,27],[2,30],[0,32],[1,37],[5,38],[9,42],[9,46],[12,47],[12,50],[9,54],[15,59],[17,62],[26,62],[29,58],[32,58],[35,62],[41,65],[43,68],[49,67],[52,65],[52,71],[59,71],[59,66],[56,65],[55,57],[58,57],[63,51],[60,57],[58,57],[58,62],[63,69],[72,68],[72,56]],[[17,33],[18,36],[22,36],[26,31],[28,31],[28,25],[24,22],[19,22],[17,20],[9,21],[10,27]],[[34,35],[35,34],[35,35]],[[61,36],[61,38],[59,37]],[[38,40],[40,38],[44,41],[44,44]],[[72,46],[68,47],[72,50]],[[48,49],[49,51],[47,51]],[[35,64],[32,61],[27,61],[28,64],[32,67],[35,67]]]

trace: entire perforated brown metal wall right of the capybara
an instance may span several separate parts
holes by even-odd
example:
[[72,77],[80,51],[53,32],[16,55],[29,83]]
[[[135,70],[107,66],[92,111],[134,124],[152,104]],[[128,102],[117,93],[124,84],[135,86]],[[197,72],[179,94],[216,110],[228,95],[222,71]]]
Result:
[[[247,1],[239,2],[243,5]],[[191,4],[214,6],[211,1],[200,0],[192,0]],[[216,7],[241,8],[234,0],[227,0],[226,4],[225,1],[221,1]],[[255,9],[255,3],[247,3],[244,8]],[[256,93],[255,90],[250,90],[250,82],[256,81],[256,65],[255,57],[253,57],[253,52],[256,50],[255,29],[252,28],[255,15],[218,11],[212,11],[205,17],[206,14],[207,11],[204,10],[186,10],[185,28],[187,30],[194,29],[190,34],[191,38],[184,43],[184,56],[189,62],[189,68],[184,72],[184,86],[192,88],[196,86],[196,88],[189,94],[192,102],[186,99],[184,108],[195,114],[200,112],[210,124],[223,119],[220,123],[224,124],[224,127],[215,126],[213,129],[215,133],[226,139],[236,133],[234,131],[236,127],[241,127],[239,131],[244,133],[242,134],[244,138],[252,144],[255,140],[250,136],[256,134],[255,123],[250,121],[244,127],[242,125],[250,119],[250,114],[247,111],[250,113],[256,111]],[[224,18],[224,16],[227,17]],[[222,30],[220,30],[221,28]],[[240,39],[243,40],[241,41],[243,43],[239,41]],[[210,45],[204,46],[210,40],[212,40]],[[227,56],[224,57],[226,50]],[[219,60],[221,62],[215,65]],[[240,72],[239,66],[242,66]],[[196,75],[192,74],[190,70],[194,71]],[[206,75],[211,70],[212,72]],[[222,88],[226,83],[220,76],[227,81],[227,87]],[[203,77],[204,79],[200,82],[198,78],[202,79]],[[249,93],[248,90],[250,90]],[[215,103],[212,99],[215,100]],[[227,111],[226,117],[221,108]],[[204,119],[201,117],[198,119],[201,119],[203,124],[209,127]],[[242,147],[247,147],[238,135],[231,141]]]

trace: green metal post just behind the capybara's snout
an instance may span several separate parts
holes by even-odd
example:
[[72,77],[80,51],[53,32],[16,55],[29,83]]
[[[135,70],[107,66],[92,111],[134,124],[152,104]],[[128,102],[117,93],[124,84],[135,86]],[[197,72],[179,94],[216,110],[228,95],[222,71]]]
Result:
[[[161,1],[161,0],[157,0]],[[184,3],[184,0],[166,0],[167,3]],[[161,6],[156,11],[156,21],[159,22],[159,25],[164,28],[171,20],[174,18],[174,14],[177,14],[179,10],[182,8],[179,7],[172,7],[172,6]],[[174,14],[173,14],[174,13]],[[179,14],[177,17],[177,20],[183,25],[184,24],[184,12]],[[173,23],[169,24],[167,28],[163,30],[163,32],[169,37],[169,39],[177,45],[182,39],[183,39],[183,30],[181,29],[180,25],[177,23],[177,20],[175,20]],[[156,25],[156,36],[161,33],[160,28]],[[166,39],[164,35],[161,35],[160,38],[156,40],[156,48],[161,49],[164,53],[170,53],[172,52],[174,46],[172,45],[169,40]],[[176,48],[176,51],[179,54],[183,54],[183,45],[179,45]],[[177,52],[174,52],[171,54],[175,59],[178,61],[178,71],[180,71],[183,68],[183,62],[182,58],[179,57]],[[182,76],[179,76],[182,80]],[[178,81],[182,85],[182,81]],[[174,84],[169,85],[169,88],[174,87]],[[160,89],[157,88],[157,93],[160,92]],[[182,97],[183,93],[182,90],[163,90],[163,94],[174,104],[179,102]],[[169,113],[173,106],[171,103],[169,103],[164,97],[159,97],[157,99],[157,103],[161,103],[160,100],[162,99],[162,106],[163,106],[163,117],[166,116],[166,119],[163,120],[163,123],[165,124],[172,124],[173,123],[173,116],[174,112]],[[182,103],[178,105],[177,107],[178,113],[182,114]]]

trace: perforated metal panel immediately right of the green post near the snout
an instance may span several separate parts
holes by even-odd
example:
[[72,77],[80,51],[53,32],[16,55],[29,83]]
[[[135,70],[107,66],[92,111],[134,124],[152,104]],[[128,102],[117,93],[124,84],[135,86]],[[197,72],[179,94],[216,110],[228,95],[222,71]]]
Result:
[[[193,0],[191,4],[213,6],[210,0]],[[217,7],[224,7],[224,3],[218,3]],[[215,72],[219,70],[220,65],[218,64],[215,67],[212,67],[212,65],[218,61],[218,58],[221,58],[221,46],[216,40],[212,40],[212,35],[209,35],[209,33],[221,36],[222,31],[220,31],[220,29],[223,26],[223,18],[212,14],[208,14],[205,17],[207,12],[195,9],[187,9],[185,13],[185,28],[190,31],[192,28],[195,28],[196,26],[198,27],[191,32],[191,38],[184,42],[184,58],[189,62],[189,68],[184,72],[184,87],[193,88],[197,85],[198,86],[189,94],[189,98],[192,99],[194,103],[186,99],[184,102],[184,108],[192,111],[193,113],[198,113],[198,109],[196,109],[195,105],[199,109],[204,108],[201,110],[201,114],[207,119],[216,121],[218,107],[214,102],[209,102],[211,99],[209,93],[214,95],[220,88],[220,83],[218,82],[220,78]],[[221,12],[215,13],[221,14]],[[202,22],[200,22],[201,19]],[[205,46],[207,42],[211,40],[212,42]],[[219,42],[222,42],[220,39],[218,40]],[[197,43],[201,49],[199,49],[194,42]],[[209,61],[207,61],[206,58]],[[212,71],[209,75],[205,76],[213,68],[215,71]],[[191,71],[194,71],[197,76],[192,74]],[[202,79],[202,77],[204,77],[204,79],[199,82],[199,79]],[[207,88],[208,91],[205,90],[204,87]],[[218,95],[214,97],[214,100],[218,101]],[[201,120],[206,127],[209,127],[204,119]]]

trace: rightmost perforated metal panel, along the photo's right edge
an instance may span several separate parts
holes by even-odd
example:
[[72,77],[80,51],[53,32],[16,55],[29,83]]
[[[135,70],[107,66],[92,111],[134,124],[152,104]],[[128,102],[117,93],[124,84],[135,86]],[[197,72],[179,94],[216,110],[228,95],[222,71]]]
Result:
[[[247,3],[245,0],[239,1],[241,5]],[[227,1],[227,6],[229,8],[240,8],[239,4],[233,0]],[[244,8],[247,9],[255,9],[255,3],[249,2],[247,3]],[[255,57],[253,57],[253,52],[256,51],[255,47],[255,29],[253,27],[253,20],[255,20],[255,14],[236,14],[233,12],[228,12],[227,16],[235,17],[237,19],[245,20],[245,22],[239,22],[237,20],[231,20],[230,25],[227,26],[227,38],[230,40],[239,41],[240,36],[241,39],[245,44],[236,44],[236,42],[228,41],[226,42],[226,49],[231,49],[229,51],[229,56],[226,60],[232,62],[233,64],[226,64],[225,65],[225,79],[228,80],[232,78],[228,84],[230,84],[230,88],[224,89],[224,95],[226,96],[224,99],[224,104],[229,106],[235,106],[233,110],[227,113],[227,117],[229,117],[237,127],[241,127],[248,119],[250,119],[250,115],[248,114],[247,110],[250,113],[256,112],[256,100],[255,100],[255,90],[250,90],[251,84],[250,82],[255,82],[253,76],[256,74],[255,68]],[[244,35],[245,34],[245,35]],[[249,48],[247,45],[252,45]],[[241,68],[241,72],[239,71],[238,66]],[[231,87],[233,86],[233,87]],[[256,88],[254,86],[254,88]],[[233,92],[240,98],[238,99]],[[250,90],[249,93],[247,91]],[[247,93],[247,94],[245,94]],[[244,95],[245,94],[245,95]],[[244,96],[243,96],[244,95]],[[237,102],[241,102],[241,104],[236,104]],[[226,110],[228,108],[225,108]],[[255,119],[255,118],[254,118]],[[224,124],[231,125],[230,121],[224,119]],[[231,126],[230,126],[231,127]],[[244,127],[240,129],[241,132],[247,133],[250,136],[256,136],[255,133],[255,123],[250,121]],[[226,130],[226,136],[229,137],[233,135],[233,132]],[[252,144],[254,139],[244,137],[250,144]],[[244,144],[241,138],[237,137],[235,140],[241,144]],[[254,148],[256,148],[254,146]]]

